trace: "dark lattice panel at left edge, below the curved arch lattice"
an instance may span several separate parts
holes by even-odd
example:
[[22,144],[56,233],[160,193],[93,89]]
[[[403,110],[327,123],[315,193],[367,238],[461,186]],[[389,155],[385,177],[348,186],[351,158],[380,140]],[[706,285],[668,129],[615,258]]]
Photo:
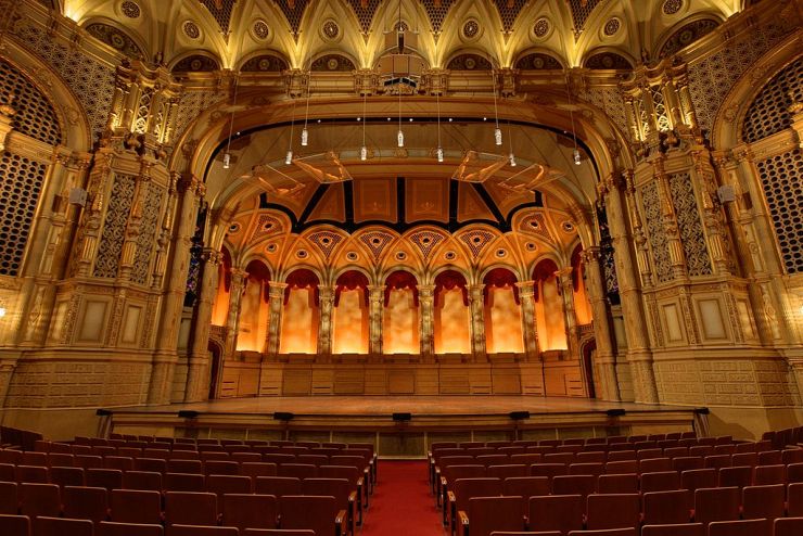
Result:
[[0,275],[20,273],[47,164],[8,151],[0,157]]

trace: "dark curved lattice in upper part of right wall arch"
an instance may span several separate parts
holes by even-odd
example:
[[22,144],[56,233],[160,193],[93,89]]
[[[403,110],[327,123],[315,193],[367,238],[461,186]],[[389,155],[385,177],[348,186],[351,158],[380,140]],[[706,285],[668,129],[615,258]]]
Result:
[[780,132],[792,124],[790,107],[803,102],[803,58],[764,86],[744,117],[742,138],[752,143]]

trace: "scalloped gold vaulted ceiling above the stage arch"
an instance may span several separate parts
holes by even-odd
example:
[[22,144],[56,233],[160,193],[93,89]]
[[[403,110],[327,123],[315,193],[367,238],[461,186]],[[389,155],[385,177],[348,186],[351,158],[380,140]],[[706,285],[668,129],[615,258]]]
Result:
[[[46,4],[59,2],[44,2]],[[676,52],[743,0],[64,0],[63,14],[111,47],[171,67],[241,69],[258,55],[308,68],[324,55],[375,65],[399,24],[430,67],[629,68]],[[184,61],[188,56],[193,60]],[[206,62],[201,59],[207,58]],[[193,63],[194,61],[194,63]],[[527,61],[526,65],[532,63]],[[540,63],[538,63],[540,64]],[[340,64],[337,64],[340,65]],[[335,67],[337,68],[337,67]],[[348,66],[352,68],[352,65]],[[560,67],[559,67],[560,68]]]

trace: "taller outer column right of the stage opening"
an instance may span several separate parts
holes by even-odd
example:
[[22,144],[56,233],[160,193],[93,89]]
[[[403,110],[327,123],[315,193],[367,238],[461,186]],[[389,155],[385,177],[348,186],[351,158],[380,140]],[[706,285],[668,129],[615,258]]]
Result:
[[627,208],[622,201],[621,189],[624,187],[623,182],[617,175],[611,175],[604,183],[600,184],[600,193],[604,196],[606,209],[608,210],[620,297],[622,298],[622,314],[629,328],[627,331],[627,360],[633,373],[635,398],[636,401],[657,404],[659,399],[655,375],[652,370],[652,353],[647,340],[647,322],[641,293],[630,253],[632,238],[626,226]]

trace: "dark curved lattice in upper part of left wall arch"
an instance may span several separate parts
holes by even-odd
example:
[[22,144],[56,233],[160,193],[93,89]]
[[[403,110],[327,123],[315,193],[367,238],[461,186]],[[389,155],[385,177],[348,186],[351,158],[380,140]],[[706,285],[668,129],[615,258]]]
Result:
[[16,67],[0,60],[0,103],[9,101],[16,131],[51,145],[61,143],[59,118],[48,99]]

